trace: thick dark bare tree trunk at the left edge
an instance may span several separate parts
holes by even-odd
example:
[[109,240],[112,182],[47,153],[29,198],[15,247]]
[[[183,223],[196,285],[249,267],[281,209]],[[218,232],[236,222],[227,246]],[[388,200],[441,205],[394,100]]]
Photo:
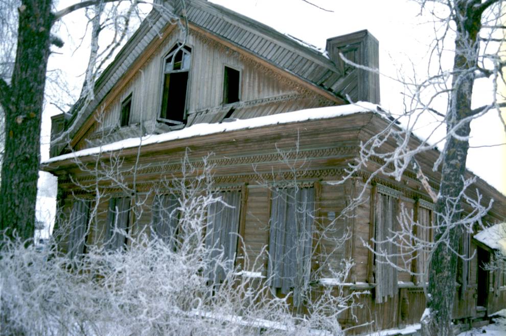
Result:
[[12,83],[0,79],[5,110],[5,156],[0,190],[0,229],[30,239],[40,164],[40,124],[50,54],[52,0],[24,0],[19,11]]

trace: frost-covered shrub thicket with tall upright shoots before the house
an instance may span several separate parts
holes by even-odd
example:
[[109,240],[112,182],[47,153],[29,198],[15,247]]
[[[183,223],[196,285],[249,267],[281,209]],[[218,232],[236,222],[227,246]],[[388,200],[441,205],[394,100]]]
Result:
[[[251,276],[261,274],[267,247],[255,260],[243,251],[243,272],[225,261],[223,250],[205,244],[206,209],[223,200],[212,192],[207,166],[198,175],[183,164],[182,173],[163,186],[178,200],[177,236],[169,243],[116,228],[127,236],[127,248],[91,245],[70,257],[54,241],[42,251],[4,241],[2,334],[342,334],[337,317],[355,305],[356,294],[342,287],[309,291],[303,298],[310,314],[294,313],[290,294],[278,298],[269,279]],[[218,269],[224,277],[212,283]]]

